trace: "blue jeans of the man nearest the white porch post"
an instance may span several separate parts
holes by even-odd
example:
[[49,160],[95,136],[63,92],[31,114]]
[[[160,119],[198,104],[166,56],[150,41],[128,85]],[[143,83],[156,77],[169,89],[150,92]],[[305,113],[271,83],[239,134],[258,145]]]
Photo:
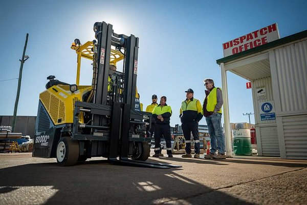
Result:
[[221,119],[221,113],[215,113],[206,117],[210,135],[211,154],[215,154],[216,151],[218,151],[220,154],[225,154],[225,138],[222,130]]

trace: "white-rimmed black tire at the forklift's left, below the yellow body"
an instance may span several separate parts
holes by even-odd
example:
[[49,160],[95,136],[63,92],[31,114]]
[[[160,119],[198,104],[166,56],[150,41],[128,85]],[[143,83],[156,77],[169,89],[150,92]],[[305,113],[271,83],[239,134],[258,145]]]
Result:
[[73,166],[79,157],[79,142],[71,137],[60,138],[56,149],[56,161],[60,166]]

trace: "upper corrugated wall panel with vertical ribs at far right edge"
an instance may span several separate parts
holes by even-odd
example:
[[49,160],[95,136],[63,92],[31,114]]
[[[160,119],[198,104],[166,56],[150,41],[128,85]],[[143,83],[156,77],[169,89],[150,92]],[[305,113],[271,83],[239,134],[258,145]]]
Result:
[[307,110],[307,40],[275,50],[281,112]]

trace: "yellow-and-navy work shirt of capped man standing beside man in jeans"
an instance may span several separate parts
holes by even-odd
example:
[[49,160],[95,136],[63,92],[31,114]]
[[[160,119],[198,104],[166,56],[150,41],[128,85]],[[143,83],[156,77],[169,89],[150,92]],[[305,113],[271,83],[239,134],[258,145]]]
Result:
[[200,121],[203,118],[202,104],[196,98],[186,99],[182,102],[180,108],[181,122]]

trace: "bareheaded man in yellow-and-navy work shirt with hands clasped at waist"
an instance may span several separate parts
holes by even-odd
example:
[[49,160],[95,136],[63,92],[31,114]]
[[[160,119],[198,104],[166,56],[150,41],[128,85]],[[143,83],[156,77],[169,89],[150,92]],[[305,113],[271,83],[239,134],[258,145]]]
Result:
[[171,116],[171,107],[166,104],[166,97],[160,98],[160,104],[153,108],[152,118],[156,119],[155,127],[155,154],[152,157],[163,156],[161,153],[160,142],[162,135],[166,142],[166,152],[168,157],[172,157],[171,153],[171,136],[169,120]]

